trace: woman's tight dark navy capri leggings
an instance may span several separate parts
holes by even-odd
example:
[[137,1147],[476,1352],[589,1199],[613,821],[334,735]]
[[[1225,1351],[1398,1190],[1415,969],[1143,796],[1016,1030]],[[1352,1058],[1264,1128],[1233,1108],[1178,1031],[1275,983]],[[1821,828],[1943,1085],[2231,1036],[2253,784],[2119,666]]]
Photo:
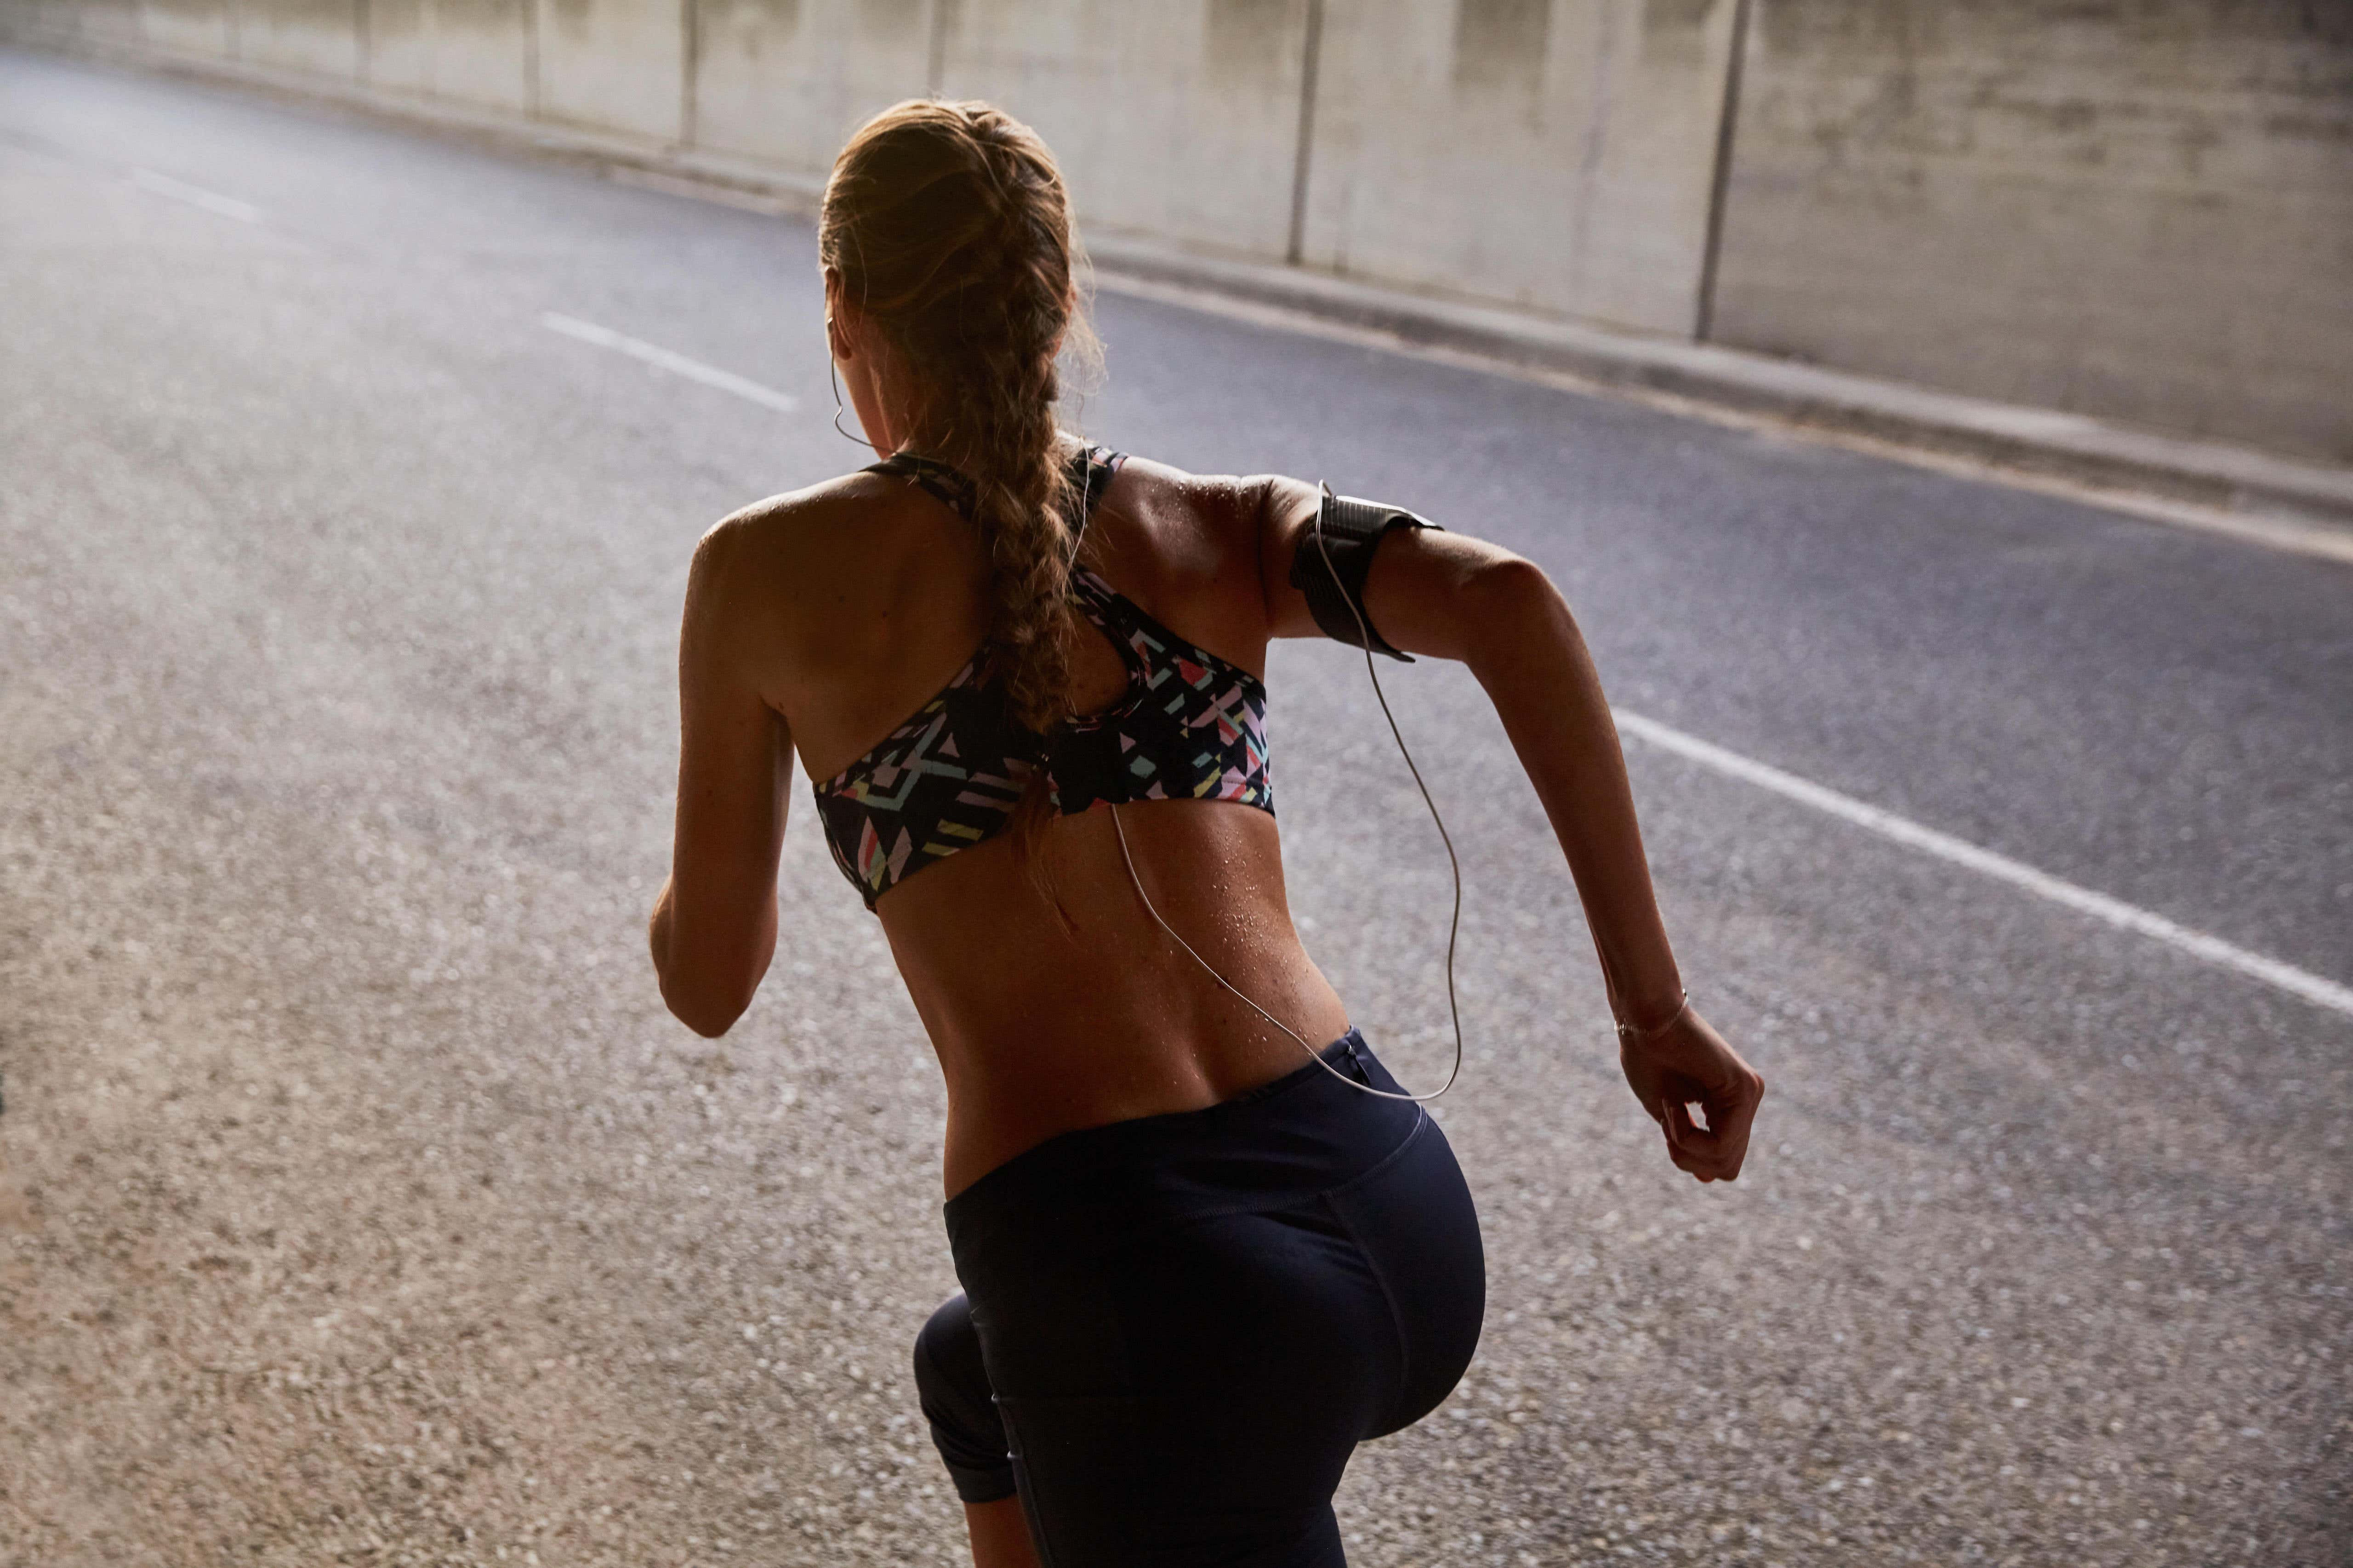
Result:
[[[1322,1058],[1398,1088],[1355,1030]],[[922,1413],[1047,1568],[1341,1566],[1351,1450],[1438,1408],[1487,1302],[1445,1133],[1315,1063],[1049,1138],[946,1218],[965,1291],[915,1338]]]

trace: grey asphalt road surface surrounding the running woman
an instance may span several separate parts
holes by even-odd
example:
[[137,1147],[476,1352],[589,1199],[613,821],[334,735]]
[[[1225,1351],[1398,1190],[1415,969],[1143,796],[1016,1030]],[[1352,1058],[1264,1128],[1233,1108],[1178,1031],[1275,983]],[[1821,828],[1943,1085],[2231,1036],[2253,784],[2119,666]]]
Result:
[[[1499,538],[1633,715],[2353,983],[2353,569],[1099,324],[1089,435]],[[856,465],[831,411],[805,223],[0,54],[0,1563],[955,1559],[941,1091],[805,788],[725,1041],[642,945],[689,548]],[[1442,853],[1348,651],[1271,686],[1311,950],[1433,1081]],[[1353,1561],[2353,1561],[2353,1016],[1631,741],[1772,1081],[1701,1190],[1475,686],[1391,691],[1489,1316]]]

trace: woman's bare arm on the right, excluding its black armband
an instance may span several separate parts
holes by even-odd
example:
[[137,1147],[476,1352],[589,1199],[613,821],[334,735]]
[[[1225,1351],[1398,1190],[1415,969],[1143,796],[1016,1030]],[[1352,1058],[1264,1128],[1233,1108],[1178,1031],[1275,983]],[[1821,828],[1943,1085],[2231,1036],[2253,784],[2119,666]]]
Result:
[[[1315,550],[1320,491],[1299,480],[1259,484],[1268,635],[1320,637],[1306,597],[1289,585],[1294,552]],[[1678,1168],[1704,1182],[1734,1180],[1765,1079],[1685,1006],[1617,724],[1560,590],[1501,545],[1393,529],[1372,557],[1362,607],[1388,642],[1464,663],[1494,701],[1577,879],[1609,1009],[1633,1030],[1619,1051],[1626,1081],[1661,1124]],[[1692,1121],[1692,1103],[1706,1126]]]

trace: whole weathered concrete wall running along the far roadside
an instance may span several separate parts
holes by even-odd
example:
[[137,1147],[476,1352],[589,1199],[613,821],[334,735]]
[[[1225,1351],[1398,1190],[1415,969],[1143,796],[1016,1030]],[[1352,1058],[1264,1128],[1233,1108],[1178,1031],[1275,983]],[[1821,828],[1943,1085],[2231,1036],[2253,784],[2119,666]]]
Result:
[[0,0],[7,19],[800,176],[896,99],[981,96],[1045,134],[1089,230],[2353,463],[2353,0]]

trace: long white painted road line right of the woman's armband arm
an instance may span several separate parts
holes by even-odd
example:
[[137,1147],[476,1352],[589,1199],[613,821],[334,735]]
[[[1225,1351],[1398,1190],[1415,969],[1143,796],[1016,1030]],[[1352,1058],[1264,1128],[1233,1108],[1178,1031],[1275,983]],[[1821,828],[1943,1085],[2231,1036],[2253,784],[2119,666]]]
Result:
[[1699,736],[1687,736],[1680,729],[1659,724],[1657,719],[1645,719],[1638,712],[1614,708],[1612,715],[1617,717],[1621,733],[1649,741],[1659,750],[1675,752],[1678,757],[1687,757],[1706,769],[1715,769],[1718,773],[1727,773],[1744,783],[1753,783],[1760,790],[1772,790],[1774,795],[1814,806],[1817,811],[1828,811],[1845,823],[1866,827],[1908,849],[1932,853],[1939,860],[1951,860],[1953,865],[1962,865],[1981,877],[1993,877],[1995,882],[2026,889],[2028,893],[2049,898],[2052,903],[2066,905],[2078,914],[2089,914],[2092,919],[2108,922],[2122,931],[2134,931],[2160,940],[2167,947],[2179,947],[2181,952],[2205,959],[2207,964],[2235,969],[2252,980],[2275,985],[2282,992],[2304,997],[2315,1006],[2353,1018],[2353,985],[2339,985],[2337,980],[2325,980],[2311,971],[2297,969],[2294,964],[2282,964],[2264,957],[2261,952],[2249,952],[2226,943],[2219,936],[2191,931],[2188,926],[2174,924],[2162,914],[2151,914],[2148,910],[2129,905],[2122,898],[2108,898],[2106,893],[2094,893],[2092,889],[2075,886],[2073,882],[2061,882],[2059,877],[2040,872],[2024,860],[2012,860],[2009,856],[1998,856],[1991,849],[1979,849],[1967,839],[1955,839],[1948,832],[1922,827],[1911,818],[1882,811],[1854,799],[1852,795],[1824,790],[1819,783],[1809,783],[1795,773],[1784,773],[1772,764],[1741,757],[1739,752],[1727,752],[1720,745],[1701,741]]

